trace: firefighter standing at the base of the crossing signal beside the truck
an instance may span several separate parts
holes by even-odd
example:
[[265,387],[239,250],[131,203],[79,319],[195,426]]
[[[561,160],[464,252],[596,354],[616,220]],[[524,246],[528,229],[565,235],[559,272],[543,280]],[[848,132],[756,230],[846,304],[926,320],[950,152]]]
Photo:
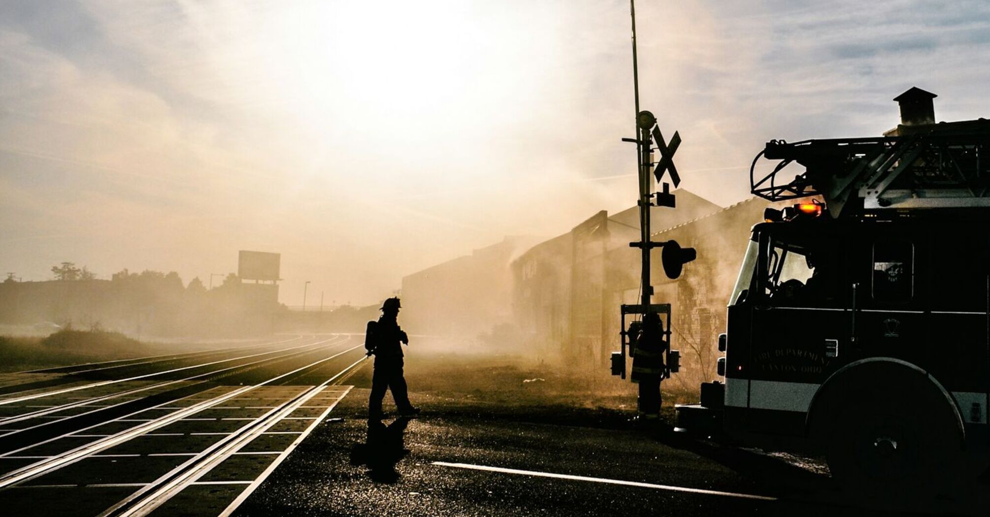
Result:
[[647,312],[635,339],[631,378],[640,384],[639,416],[653,420],[660,416],[660,381],[664,374],[663,354],[667,350],[660,315]]

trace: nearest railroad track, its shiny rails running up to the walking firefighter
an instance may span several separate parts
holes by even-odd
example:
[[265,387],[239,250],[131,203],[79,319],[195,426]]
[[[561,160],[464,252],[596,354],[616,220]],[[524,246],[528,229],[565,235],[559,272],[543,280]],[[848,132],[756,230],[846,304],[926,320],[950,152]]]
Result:
[[[46,504],[57,505],[59,498],[91,504],[72,507],[80,514],[158,515],[175,505],[188,509],[182,501],[194,497],[204,515],[228,515],[349,391],[336,383],[364,356],[361,344],[344,340],[333,345],[343,350],[327,355],[324,346],[327,356],[315,361],[306,359],[314,351],[282,358],[292,362],[282,364],[287,370],[256,382],[214,386],[0,455],[0,467],[21,464],[0,475],[0,507],[16,512],[50,493]],[[303,359],[308,362],[300,364]],[[294,378],[309,379],[331,366],[316,385],[292,385]],[[251,466],[231,467],[242,464]],[[79,490],[94,495],[80,498]],[[215,504],[203,505],[206,492]]]

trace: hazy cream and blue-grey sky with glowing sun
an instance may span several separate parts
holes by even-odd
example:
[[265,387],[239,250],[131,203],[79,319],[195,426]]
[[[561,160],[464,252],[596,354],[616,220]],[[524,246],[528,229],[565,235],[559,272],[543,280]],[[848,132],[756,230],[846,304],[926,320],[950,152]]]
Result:
[[[892,99],[990,115],[990,3],[640,0],[642,106],[682,186],[747,196],[769,139],[871,136]],[[373,303],[506,234],[636,198],[629,4],[0,3],[0,272],[236,270]],[[479,293],[483,296],[484,293]]]

